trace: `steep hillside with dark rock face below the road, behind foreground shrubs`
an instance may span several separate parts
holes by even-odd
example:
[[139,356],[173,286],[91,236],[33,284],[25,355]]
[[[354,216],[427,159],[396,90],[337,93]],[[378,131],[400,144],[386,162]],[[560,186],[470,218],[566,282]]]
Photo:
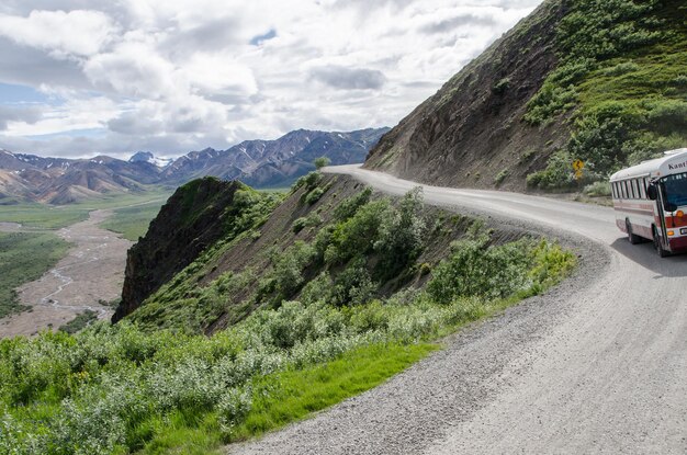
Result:
[[[146,238],[129,251],[123,306],[115,320],[129,315],[126,319],[142,328],[215,332],[258,308],[279,308],[286,300],[348,306],[386,298],[408,286],[421,287],[449,254],[451,242],[475,223],[424,208],[421,193],[392,202],[349,178],[311,173],[279,205],[269,195],[239,190],[252,197],[250,211],[239,209],[240,225],[214,244],[209,242],[202,253],[189,254],[178,248],[189,242],[185,228],[168,215],[182,212],[179,193],[187,191],[181,189],[169,201]],[[240,204],[227,206],[234,211]],[[523,235],[493,231],[489,243]],[[160,248],[147,247],[158,242],[169,244],[164,254]],[[165,280],[151,280],[150,272],[181,263],[188,266],[173,278],[167,270]]]

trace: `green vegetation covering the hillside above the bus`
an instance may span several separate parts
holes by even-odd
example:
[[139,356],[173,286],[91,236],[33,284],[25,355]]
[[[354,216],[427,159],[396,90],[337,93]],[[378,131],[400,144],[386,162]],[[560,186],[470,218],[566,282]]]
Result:
[[[559,65],[525,121],[572,124],[567,145],[528,177],[544,190],[584,183],[687,144],[687,7],[680,0],[578,0],[558,29]],[[600,187],[589,189],[598,193]]]

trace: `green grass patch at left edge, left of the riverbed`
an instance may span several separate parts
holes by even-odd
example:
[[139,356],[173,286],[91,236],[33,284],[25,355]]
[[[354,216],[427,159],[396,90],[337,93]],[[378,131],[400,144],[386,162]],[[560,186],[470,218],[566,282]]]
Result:
[[0,318],[29,309],[14,288],[40,278],[69,247],[50,232],[0,232]]

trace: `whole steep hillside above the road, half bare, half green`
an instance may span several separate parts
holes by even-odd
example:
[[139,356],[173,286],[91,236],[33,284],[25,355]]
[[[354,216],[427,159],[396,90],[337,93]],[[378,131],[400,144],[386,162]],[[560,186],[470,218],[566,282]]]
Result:
[[[453,186],[574,187],[687,143],[682,0],[547,0],[448,81],[365,167]],[[529,178],[528,178],[529,177]]]

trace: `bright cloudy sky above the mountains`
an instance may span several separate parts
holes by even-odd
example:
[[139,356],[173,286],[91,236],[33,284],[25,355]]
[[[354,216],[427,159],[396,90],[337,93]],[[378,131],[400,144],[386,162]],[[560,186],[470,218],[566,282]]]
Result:
[[173,157],[394,126],[541,0],[3,0],[0,147]]

